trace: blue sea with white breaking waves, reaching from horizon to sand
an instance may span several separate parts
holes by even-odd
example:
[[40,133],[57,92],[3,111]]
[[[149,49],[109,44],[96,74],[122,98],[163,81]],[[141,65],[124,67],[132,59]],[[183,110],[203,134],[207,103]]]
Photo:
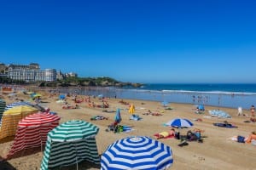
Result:
[[102,95],[120,99],[142,99],[172,103],[186,103],[193,105],[212,105],[216,107],[230,107],[249,109],[256,105],[256,84],[237,83],[205,83],[205,84],[163,84],[148,83],[140,88],[59,88],[59,93],[75,93],[82,95]]

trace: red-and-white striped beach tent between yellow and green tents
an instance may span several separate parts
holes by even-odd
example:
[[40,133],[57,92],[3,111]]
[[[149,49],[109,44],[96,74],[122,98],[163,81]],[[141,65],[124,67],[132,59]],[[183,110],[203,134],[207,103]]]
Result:
[[18,124],[15,141],[7,158],[20,150],[38,146],[42,148],[42,145],[46,143],[47,133],[59,125],[60,119],[59,116],[49,113],[35,113],[26,116]]

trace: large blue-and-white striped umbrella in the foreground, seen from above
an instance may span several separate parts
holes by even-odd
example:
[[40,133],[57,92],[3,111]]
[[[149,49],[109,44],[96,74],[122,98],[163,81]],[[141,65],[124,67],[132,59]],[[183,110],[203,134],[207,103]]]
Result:
[[128,137],[108,146],[102,154],[102,170],[145,169],[156,170],[171,167],[170,146],[149,137]]

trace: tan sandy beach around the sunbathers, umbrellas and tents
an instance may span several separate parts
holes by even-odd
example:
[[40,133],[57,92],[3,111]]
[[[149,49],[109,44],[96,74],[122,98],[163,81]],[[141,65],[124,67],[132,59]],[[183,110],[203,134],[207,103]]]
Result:
[[[8,99],[7,95],[2,96],[7,104],[13,103],[15,100]],[[84,97],[84,96],[83,96]],[[27,100],[28,95],[18,94],[19,99]],[[100,128],[99,133],[96,135],[96,144],[98,152],[101,155],[108,147],[117,139],[123,139],[127,136],[149,136],[154,138],[154,133],[160,133],[162,131],[168,131],[170,127],[163,126],[163,123],[168,122],[176,117],[188,118],[194,123],[194,127],[203,129],[202,133],[203,143],[189,142],[189,145],[179,147],[177,144],[180,140],[171,139],[159,139],[161,142],[172,147],[173,164],[170,169],[255,169],[255,149],[253,144],[241,144],[235,141],[231,141],[229,138],[235,135],[241,135],[247,137],[247,135],[253,131],[256,131],[255,122],[244,122],[249,120],[247,116],[237,116],[237,109],[232,108],[220,108],[213,106],[205,106],[206,111],[204,114],[195,114],[195,105],[177,104],[172,103],[170,106],[172,110],[164,110],[160,102],[145,101],[145,100],[130,100],[125,99],[129,104],[133,104],[136,107],[136,114],[141,116],[141,121],[129,120],[131,116],[128,113],[128,105],[122,105],[119,103],[121,99],[107,99],[109,108],[108,111],[116,111],[117,108],[121,110],[122,122],[121,125],[127,125],[133,127],[133,131],[130,133],[113,133],[106,132],[109,124],[114,120],[115,112],[107,113],[103,112],[102,108],[89,107],[88,103],[83,102],[79,104],[79,109],[62,109],[61,104],[57,104],[55,101],[58,96],[49,98],[49,94],[43,94],[41,105],[49,107],[50,111],[57,112],[58,116],[61,116],[62,122],[69,120],[84,120],[86,122],[92,122]],[[91,99],[95,104],[101,104],[100,99]],[[67,102],[74,105],[73,100],[67,98]],[[213,109],[220,109],[226,111],[232,116],[230,119],[218,119],[211,117],[208,111]],[[160,112],[162,116],[147,116],[143,115],[148,110],[154,112]],[[244,110],[244,114],[250,115],[249,111]],[[91,121],[92,116],[105,116],[108,120]],[[202,121],[198,122],[195,119],[200,118]],[[238,128],[225,128],[215,127],[212,125],[214,122],[228,121],[235,124]],[[189,129],[181,129],[181,134],[185,135]],[[9,153],[11,144],[14,137],[3,139],[0,141],[0,156],[4,157]],[[18,153],[13,159],[7,162],[0,163],[0,169],[2,170],[3,164],[8,166],[7,169],[18,170],[36,170],[39,169],[43,152],[40,148],[33,148]],[[9,165],[7,165],[9,164]],[[2,167],[1,167],[2,166]],[[61,170],[75,169],[75,166],[61,167]],[[87,161],[79,163],[79,169],[99,169],[96,166]]]

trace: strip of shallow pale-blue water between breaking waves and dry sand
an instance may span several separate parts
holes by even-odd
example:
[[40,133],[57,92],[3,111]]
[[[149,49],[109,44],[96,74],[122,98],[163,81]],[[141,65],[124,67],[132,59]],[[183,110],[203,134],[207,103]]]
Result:
[[17,89],[26,88],[30,91],[44,91],[45,93],[57,94],[79,94],[97,96],[102,94],[104,97],[114,98],[115,96],[120,99],[143,99],[149,101],[169,103],[185,103],[191,105],[212,105],[216,107],[230,107],[249,109],[251,105],[255,105],[256,95],[237,95],[237,94],[191,94],[170,92],[163,93],[161,91],[144,90],[144,89],[125,89],[125,88],[105,88],[105,87],[58,87],[58,88],[38,88],[36,86],[19,86]]

